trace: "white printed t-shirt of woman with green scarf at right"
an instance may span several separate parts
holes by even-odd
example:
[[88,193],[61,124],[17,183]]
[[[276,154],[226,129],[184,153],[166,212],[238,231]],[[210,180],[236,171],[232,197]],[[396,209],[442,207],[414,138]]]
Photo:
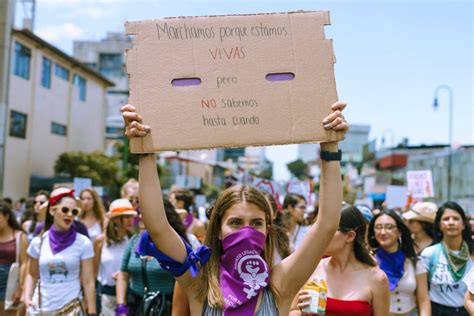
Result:
[[[421,257],[427,271],[429,271],[430,258],[435,252],[435,246],[425,248],[421,252]],[[463,278],[466,277],[471,268],[472,260],[469,259]],[[467,291],[467,286],[463,282],[463,278],[457,282],[454,281],[451,272],[449,272],[448,259],[443,251],[440,251],[438,264],[433,269],[431,280],[428,280],[430,282],[431,301],[449,307],[464,306],[464,294]]]

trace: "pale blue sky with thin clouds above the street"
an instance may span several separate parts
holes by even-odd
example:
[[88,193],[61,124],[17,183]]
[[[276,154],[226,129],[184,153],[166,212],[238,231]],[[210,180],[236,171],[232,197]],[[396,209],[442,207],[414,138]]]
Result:
[[[18,0],[19,1],[19,0]],[[28,9],[17,5],[17,25]],[[474,144],[471,0],[36,0],[34,31],[67,53],[74,40],[100,40],[123,32],[126,21],[168,16],[330,11],[340,100],[350,124],[370,125],[369,138],[386,145],[448,143],[453,94],[453,143]],[[267,148],[276,179],[296,145]]]

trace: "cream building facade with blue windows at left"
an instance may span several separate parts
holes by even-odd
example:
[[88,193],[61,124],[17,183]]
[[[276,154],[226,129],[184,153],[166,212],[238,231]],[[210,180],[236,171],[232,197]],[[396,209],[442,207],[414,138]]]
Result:
[[54,176],[58,155],[104,150],[106,89],[113,83],[29,30],[13,30],[3,196],[30,194]]

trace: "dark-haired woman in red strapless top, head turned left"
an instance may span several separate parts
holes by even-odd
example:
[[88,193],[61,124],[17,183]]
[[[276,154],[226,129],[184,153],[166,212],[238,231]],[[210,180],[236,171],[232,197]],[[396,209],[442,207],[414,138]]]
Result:
[[[386,316],[390,294],[385,273],[377,267],[365,243],[367,225],[360,211],[344,204],[339,228],[309,279],[327,284],[326,316]],[[295,297],[291,316],[301,315],[311,296],[302,290]],[[298,310],[299,309],[299,310]]]

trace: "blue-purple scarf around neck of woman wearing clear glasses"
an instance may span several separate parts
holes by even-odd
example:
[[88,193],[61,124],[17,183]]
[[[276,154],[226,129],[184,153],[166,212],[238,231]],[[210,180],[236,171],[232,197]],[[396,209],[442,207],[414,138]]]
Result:
[[388,277],[388,285],[390,292],[397,286],[403,276],[405,270],[405,254],[401,249],[396,252],[389,253],[379,248],[375,253],[380,269],[385,272]]

